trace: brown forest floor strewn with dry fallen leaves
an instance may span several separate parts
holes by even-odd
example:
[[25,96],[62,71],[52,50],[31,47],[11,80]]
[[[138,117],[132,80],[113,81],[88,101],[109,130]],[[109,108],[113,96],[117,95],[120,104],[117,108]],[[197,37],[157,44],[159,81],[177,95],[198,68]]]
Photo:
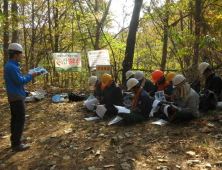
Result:
[[23,137],[28,138],[31,148],[12,152],[10,109],[5,88],[1,87],[0,169],[222,169],[220,110],[200,113],[198,119],[182,124],[158,126],[150,124],[158,118],[150,118],[130,126],[107,126],[110,120],[86,122],[84,118],[93,113],[83,107],[83,102],[52,102],[53,95],[73,89],[43,89],[47,92],[45,99],[26,103]]

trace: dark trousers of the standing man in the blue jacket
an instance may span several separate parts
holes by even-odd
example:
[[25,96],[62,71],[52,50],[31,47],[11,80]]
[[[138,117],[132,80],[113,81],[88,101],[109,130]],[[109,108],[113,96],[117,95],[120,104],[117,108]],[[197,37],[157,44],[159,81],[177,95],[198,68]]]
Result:
[[25,101],[10,102],[11,110],[11,144],[12,147],[20,145],[25,124]]

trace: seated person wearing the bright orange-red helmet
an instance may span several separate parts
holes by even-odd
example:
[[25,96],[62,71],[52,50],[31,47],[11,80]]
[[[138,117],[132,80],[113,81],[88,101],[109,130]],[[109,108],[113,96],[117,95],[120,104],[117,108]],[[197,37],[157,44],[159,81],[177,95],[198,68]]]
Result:
[[152,81],[156,84],[154,85],[154,88],[149,92],[149,95],[151,97],[154,97],[155,92],[157,91],[164,91],[164,94],[171,96],[173,93],[173,87],[172,84],[170,84],[165,76],[163,75],[163,72],[160,70],[155,70],[152,73]]

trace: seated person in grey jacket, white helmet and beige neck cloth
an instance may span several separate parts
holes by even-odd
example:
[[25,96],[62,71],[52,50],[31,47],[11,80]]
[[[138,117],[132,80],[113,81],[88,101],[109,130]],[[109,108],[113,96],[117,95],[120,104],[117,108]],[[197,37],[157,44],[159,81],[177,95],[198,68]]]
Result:
[[176,75],[173,79],[175,94],[172,96],[178,108],[170,105],[168,107],[169,121],[180,122],[191,120],[199,114],[199,96],[182,75]]

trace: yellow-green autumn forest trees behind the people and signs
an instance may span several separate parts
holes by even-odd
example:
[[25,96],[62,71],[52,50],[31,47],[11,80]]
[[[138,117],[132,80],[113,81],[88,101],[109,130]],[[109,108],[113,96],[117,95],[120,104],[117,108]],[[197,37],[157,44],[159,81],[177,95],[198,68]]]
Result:
[[[135,0],[130,14],[142,12],[143,15],[135,27],[133,54],[126,52],[133,24],[122,27],[119,32],[110,31],[116,22],[110,8],[113,1],[1,1],[1,65],[4,67],[8,61],[8,45],[17,42],[24,49],[22,74],[37,66],[44,67],[49,74],[40,81],[60,87],[88,85],[91,71],[87,52],[103,49],[109,50],[113,77],[119,83],[122,72],[127,69],[142,70],[147,78],[155,69],[166,73],[175,70],[193,80],[198,77],[198,64],[205,61],[219,72],[222,65],[221,1],[151,0],[145,3]],[[136,8],[138,6],[141,7]],[[131,23],[134,21],[132,17]],[[53,52],[81,52],[82,73],[56,72]],[[123,64],[129,55],[132,66]]]

